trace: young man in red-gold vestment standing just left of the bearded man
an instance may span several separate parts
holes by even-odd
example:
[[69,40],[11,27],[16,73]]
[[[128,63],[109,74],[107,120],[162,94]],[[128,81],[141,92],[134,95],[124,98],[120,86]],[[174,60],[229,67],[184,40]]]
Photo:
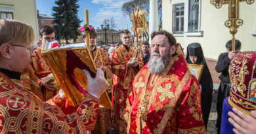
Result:
[[123,42],[112,55],[112,72],[117,76],[113,83],[113,110],[112,120],[116,132],[127,133],[127,123],[123,117],[126,107],[126,99],[131,92],[133,79],[143,66],[143,59],[140,54],[137,55],[137,61],[133,61],[135,50],[131,44],[131,33],[123,30],[119,33],[120,40]]

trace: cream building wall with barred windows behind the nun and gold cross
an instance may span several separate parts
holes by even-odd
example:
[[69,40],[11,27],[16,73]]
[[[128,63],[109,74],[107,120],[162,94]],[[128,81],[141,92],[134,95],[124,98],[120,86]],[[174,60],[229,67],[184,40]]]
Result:
[[[219,84],[219,74],[215,65],[219,54],[226,52],[225,44],[232,38],[224,22],[228,20],[228,5],[217,9],[210,0],[163,0],[163,29],[173,33],[177,42],[186,47],[192,42],[199,42],[213,82]],[[256,50],[256,2],[248,5],[239,3],[240,19],[244,24],[238,28],[236,39],[242,42],[241,51]]]

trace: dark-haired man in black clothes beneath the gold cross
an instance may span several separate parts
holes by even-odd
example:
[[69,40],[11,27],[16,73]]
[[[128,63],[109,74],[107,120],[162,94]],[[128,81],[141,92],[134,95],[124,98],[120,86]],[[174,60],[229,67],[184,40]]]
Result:
[[241,42],[239,40],[235,41],[235,51],[232,50],[232,41],[226,42],[226,51],[224,53],[221,53],[217,62],[217,65],[215,67],[215,70],[218,73],[221,73],[219,76],[219,79],[221,79],[221,84],[219,85],[218,90],[218,98],[217,98],[217,123],[216,127],[218,129],[218,133],[221,131],[221,115],[223,111],[223,101],[226,97],[230,95],[230,78],[229,78],[229,65],[230,65],[230,59],[234,58],[238,52],[240,52],[241,49]]

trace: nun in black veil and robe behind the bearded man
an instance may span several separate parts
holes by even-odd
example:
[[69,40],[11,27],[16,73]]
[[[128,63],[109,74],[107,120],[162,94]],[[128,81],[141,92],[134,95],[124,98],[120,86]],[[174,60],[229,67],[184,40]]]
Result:
[[188,44],[188,47],[186,49],[186,62],[193,64],[192,61],[190,61],[189,56],[197,56],[198,59],[194,64],[203,65],[203,73],[200,78],[199,84],[202,86],[201,105],[203,113],[203,123],[205,124],[205,129],[207,129],[207,123],[211,111],[211,100],[213,97],[213,80],[211,78],[210,71],[203,56],[202,47],[199,43],[196,42]]

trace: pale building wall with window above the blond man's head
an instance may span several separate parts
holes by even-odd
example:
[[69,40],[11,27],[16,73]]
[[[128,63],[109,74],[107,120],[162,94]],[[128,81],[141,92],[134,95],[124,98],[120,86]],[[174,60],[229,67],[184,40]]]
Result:
[[25,22],[33,27],[35,41],[38,40],[38,24],[35,0],[0,0],[0,18]]

